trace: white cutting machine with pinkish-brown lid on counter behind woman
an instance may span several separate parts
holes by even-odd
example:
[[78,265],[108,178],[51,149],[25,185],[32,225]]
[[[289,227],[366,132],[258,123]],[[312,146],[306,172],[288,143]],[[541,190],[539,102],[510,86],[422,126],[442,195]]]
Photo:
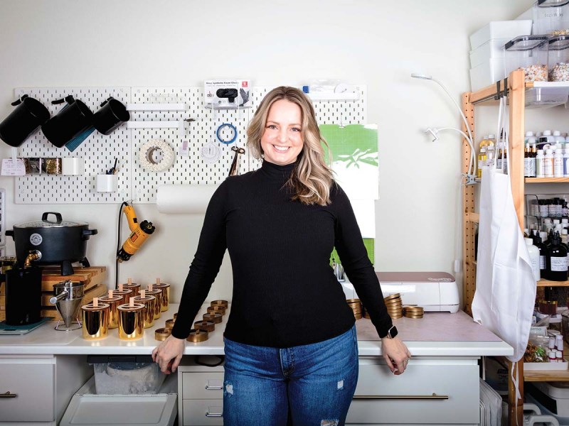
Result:
[[[458,312],[457,283],[446,272],[376,272],[383,297],[400,293],[403,305],[418,305],[425,312]],[[351,283],[341,283],[346,298],[357,299]]]

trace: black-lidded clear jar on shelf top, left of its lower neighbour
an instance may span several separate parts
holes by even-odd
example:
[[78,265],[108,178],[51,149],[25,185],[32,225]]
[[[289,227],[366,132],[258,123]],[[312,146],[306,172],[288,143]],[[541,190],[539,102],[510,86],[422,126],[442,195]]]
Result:
[[520,35],[504,46],[506,75],[523,70],[526,82],[547,81],[548,38],[546,35]]

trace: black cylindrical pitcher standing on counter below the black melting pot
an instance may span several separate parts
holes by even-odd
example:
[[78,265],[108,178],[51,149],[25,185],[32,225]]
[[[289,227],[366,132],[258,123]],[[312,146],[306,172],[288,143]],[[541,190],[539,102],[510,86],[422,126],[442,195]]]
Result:
[[6,324],[26,325],[41,320],[41,268],[6,271]]

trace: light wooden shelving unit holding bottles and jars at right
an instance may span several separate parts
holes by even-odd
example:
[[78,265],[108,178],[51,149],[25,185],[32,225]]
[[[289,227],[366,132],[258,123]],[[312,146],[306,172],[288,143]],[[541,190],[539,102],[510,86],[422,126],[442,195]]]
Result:
[[[507,81],[507,87],[505,87]],[[493,84],[477,92],[467,92],[462,96],[462,109],[467,116],[474,137],[474,106],[475,105],[494,105],[497,104],[496,94],[507,89],[507,96],[510,106],[509,138],[510,151],[509,158],[511,168],[509,176],[511,179],[512,195],[518,221],[523,229],[523,197],[524,185],[531,183],[566,183],[569,178],[524,178],[523,177],[523,136],[525,134],[525,105],[526,90],[540,87],[541,90],[558,89],[559,87],[569,87],[569,82],[524,82],[523,71],[511,72],[507,80],[503,80],[496,87]],[[551,105],[548,105],[551,106]],[[535,107],[535,106],[533,106]],[[545,105],[544,105],[545,107]],[[463,126],[464,128],[465,126]],[[466,131],[466,129],[463,129]],[[462,171],[467,172],[470,147],[464,139],[462,143]],[[479,222],[479,217],[474,213],[474,185],[469,185],[463,193],[463,258],[464,258],[464,302],[465,310],[472,315],[471,306],[474,290],[476,289],[476,262],[474,261],[474,226]],[[569,286],[569,281],[556,282],[541,280],[539,287],[560,287]],[[565,356],[569,354],[565,349]],[[569,381],[569,371],[523,371],[523,361],[516,363],[517,374],[522,376],[524,381]],[[514,372],[515,374],[516,372]],[[521,399],[517,400],[517,413],[514,409],[516,403],[516,392],[514,384],[509,383],[509,425],[516,425],[516,417],[523,418],[523,382],[520,383],[519,391]]]

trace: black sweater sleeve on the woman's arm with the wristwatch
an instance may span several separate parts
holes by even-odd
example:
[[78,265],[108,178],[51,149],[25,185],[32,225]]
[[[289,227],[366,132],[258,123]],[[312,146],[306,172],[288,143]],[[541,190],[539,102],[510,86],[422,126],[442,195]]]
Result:
[[333,191],[336,212],[334,245],[350,282],[369,313],[371,322],[379,336],[383,337],[393,323],[383,301],[381,286],[368,258],[366,246],[363,245],[361,231],[346,193],[339,185]]

